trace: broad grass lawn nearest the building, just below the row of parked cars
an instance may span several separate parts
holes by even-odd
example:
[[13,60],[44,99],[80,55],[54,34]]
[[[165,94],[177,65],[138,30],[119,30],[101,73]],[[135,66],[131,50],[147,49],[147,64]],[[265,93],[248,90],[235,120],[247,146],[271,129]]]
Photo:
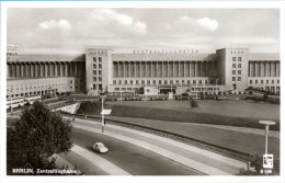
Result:
[[198,101],[190,108],[189,101],[117,101],[107,102],[112,116],[169,121],[173,123],[203,123],[261,128],[259,119],[271,119],[280,130],[280,105],[247,101]]

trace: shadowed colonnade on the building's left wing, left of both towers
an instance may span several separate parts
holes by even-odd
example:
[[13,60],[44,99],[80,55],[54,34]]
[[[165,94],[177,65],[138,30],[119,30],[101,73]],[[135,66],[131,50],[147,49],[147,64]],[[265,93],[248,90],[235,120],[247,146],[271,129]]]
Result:
[[8,78],[34,77],[83,77],[83,61],[9,61],[7,62]]

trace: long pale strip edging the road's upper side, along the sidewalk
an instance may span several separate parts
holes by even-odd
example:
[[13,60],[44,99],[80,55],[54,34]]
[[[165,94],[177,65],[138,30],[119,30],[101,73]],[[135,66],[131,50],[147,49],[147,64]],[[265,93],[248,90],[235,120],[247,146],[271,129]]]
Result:
[[[101,130],[99,130],[99,129],[94,129],[92,127],[87,127],[87,126],[83,126],[83,125],[75,124],[75,127],[80,128],[80,129],[84,129],[84,130],[89,130],[89,131],[92,131],[92,133],[96,133],[96,134],[102,134]],[[218,170],[216,168],[209,167],[207,164],[197,162],[195,160],[185,158],[183,156],[180,156],[178,153],[171,152],[169,150],[162,149],[158,146],[153,146],[153,145],[150,145],[150,144],[141,141],[141,140],[137,140],[137,139],[129,138],[129,137],[126,137],[126,136],[121,136],[121,135],[113,134],[113,133],[110,133],[110,131],[105,131],[102,135],[110,136],[110,137],[113,137],[113,138],[116,138],[116,139],[119,139],[119,140],[123,140],[123,141],[126,141],[126,142],[129,142],[129,144],[133,144],[133,145],[136,145],[136,146],[139,146],[139,147],[142,147],[142,148],[145,148],[149,151],[152,151],[152,152],[158,153],[162,157],[166,157],[168,159],[171,159],[173,161],[176,161],[181,164],[184,164],[189,168],[195,169],[197,171],[201,171],[201,172],[209,174],[209,175],[230,175],[230,173],[228,173],[228,172],[225,172],[225,171]]]

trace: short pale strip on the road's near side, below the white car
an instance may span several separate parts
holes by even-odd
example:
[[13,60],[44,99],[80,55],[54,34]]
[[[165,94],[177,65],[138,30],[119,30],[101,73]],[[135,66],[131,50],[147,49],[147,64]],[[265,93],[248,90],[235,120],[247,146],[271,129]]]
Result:
[[112,162],[105,160],[104,158],[101,158],[100,156],[86,150],[84,148],[81,148],[80,146],[75,145],[71,148],[71,151],[76,152],[80,157],[87,159],[92,164],[99,167],[104,172],[106,172],[110,175],[130,175],[128,172],[124,171],[123,169],[116,167]]

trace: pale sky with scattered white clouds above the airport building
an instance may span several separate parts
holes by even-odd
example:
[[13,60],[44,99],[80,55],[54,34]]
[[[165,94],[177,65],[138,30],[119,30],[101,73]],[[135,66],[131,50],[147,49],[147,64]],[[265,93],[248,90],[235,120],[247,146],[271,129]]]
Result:
[[8,43],[22,53],[87,47],[280,52],[277,9],[8,9]]

